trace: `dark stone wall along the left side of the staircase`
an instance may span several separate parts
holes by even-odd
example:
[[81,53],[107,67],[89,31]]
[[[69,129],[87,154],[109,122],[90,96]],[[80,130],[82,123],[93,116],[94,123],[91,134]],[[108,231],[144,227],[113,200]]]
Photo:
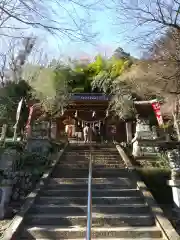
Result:
[[[38,144],[39,142],[39,144]],[[41,142],[41,143],[40,143]],[[55,147],[53,147],[53,145]],[[44,171],[51,164],[52,156],[60,150],[60,146],[51,144],[47,139],[32,139],[24,151],[9,149],[8,164],[0,169],[0,218],[3,219],[8,206],[21,203],[32,191]],[[5,149],[7,158],[8,149]],[[1,155],[2,158],[3,154]]]

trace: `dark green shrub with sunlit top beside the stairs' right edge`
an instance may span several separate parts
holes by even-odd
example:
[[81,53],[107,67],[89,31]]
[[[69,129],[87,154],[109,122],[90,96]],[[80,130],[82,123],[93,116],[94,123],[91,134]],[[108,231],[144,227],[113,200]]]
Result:
[[168,168],[138,168],[142,181],[147,185],[159,204],[172,204],[172,190],[167,185],[171,171]]

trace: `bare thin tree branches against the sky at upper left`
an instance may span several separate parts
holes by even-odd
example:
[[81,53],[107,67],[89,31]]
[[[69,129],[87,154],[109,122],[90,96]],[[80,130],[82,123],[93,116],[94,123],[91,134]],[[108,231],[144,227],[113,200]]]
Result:
[[36,28],[59,37],[89,41],[95,35],[89,32],[88,11],[95,10],[97,5],[94,0],[83,3],[74,0],[1,0],[0,34],[20,37],[22,31]]

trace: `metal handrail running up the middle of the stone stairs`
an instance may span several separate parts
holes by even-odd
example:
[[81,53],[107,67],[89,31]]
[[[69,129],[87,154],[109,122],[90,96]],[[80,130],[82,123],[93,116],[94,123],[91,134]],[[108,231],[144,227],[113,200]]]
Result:
[[92,226],[92,145],[90,143],[86,240],[91,240],[91,226]]

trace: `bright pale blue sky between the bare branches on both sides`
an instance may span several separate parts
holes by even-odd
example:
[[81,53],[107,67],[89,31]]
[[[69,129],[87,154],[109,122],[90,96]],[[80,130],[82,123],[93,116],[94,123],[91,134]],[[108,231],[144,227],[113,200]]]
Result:
[[[126,39],[126,36],[129,35],[131,37],[132,35],[130,25],[118,24],[118,26],[115,27],[114,23],[116,21],[116,17],[114,11],[107,10],[107,8],[100,5],[98,6],[98,9],[96,8],[95,10],[88,11],[88,13],[90,13],[90,15],[88,15],[86,9],[78,7],[77,4],[72,6],[71,0],[61,0],[60,3],[64,4],[62,6],[57,5],[55,1],[56,0],[51,0],[49,4],[51,4],[53,11],[56,12],[53,16],[53,20],[60,22],[60,26],[74,29],[75,24],[73,23],[72,18],[79,22],[82,19],[83,21],[84,19],[90,20],[92,21],[92,24],[89,25],[87,29],[91,32],[98,33],[98,35],[94,39],[93,43],[87,43],[82,41],[71,41],[64,35],[62,38],[55,38],[40,29],[28,28],[25,30],[26,35],[33,32],[38,36],[37,48],[40,49],[40,54],[41,49],[43,49],[43,52],[46,53],[49,58],[59,58],[60,56],[63,58],[68,56],[72,58],[92,58],[98,53],[110,56],[117,47],[122,47],[131,55],[140,57],[141,52],[137,46],[134,46],[132,42],[129,43]],[[74,1],[78,0],[73,0],[73,2]],[[88,3],[90,1],[94,2],[98,0],[83,0],[83,3]],[[14,24],[14,21],[11,22],[11,24]],[[46,24],[51,23],[48,22]],[[86,24],[84,25],[86,26]],[[22,24],[16,22],[16,26],[22,27]],[[8,40],[9,39],[7,38],[4,40],[1,39],[1,49],[8,49]]]

